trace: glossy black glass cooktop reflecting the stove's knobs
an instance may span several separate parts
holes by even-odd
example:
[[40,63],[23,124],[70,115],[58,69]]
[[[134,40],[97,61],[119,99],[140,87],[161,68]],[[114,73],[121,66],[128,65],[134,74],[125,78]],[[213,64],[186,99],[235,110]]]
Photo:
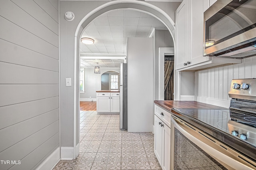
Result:
[[230,111],[230,109],[174,110],[182,114],[179,116],[181,118],[210,126],[256,147],[256,116],[254,115]]

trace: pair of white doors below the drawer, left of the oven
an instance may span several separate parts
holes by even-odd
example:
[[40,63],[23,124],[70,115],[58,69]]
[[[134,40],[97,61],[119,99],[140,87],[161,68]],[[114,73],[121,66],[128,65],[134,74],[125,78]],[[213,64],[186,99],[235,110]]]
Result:
[[154,153],[163,170],[170,170],[171,129],[154,116]]

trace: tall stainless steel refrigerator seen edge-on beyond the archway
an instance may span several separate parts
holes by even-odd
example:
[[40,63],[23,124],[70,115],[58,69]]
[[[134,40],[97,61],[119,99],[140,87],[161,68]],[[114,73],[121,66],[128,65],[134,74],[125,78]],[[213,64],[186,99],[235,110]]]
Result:
[[127,130],[127,63],[120,65],[120,129]]

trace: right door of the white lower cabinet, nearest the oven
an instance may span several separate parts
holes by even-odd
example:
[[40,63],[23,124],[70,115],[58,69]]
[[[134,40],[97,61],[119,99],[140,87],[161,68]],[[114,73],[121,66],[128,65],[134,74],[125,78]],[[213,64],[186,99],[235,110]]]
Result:
[[171,153],[171,129],[163,124],[162,127],[162,169],[170,170],[170,153]]

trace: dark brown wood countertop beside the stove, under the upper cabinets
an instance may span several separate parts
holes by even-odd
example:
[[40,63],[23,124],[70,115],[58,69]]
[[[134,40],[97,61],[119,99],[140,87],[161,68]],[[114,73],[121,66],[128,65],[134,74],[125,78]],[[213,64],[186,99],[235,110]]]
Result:
[[155,100],[154,103],[168,111],[172,111],[172,109],[226,109],[224,107],[218,107],[215,105],[209,105],[206,103],[201,103],[197,101],[172,101],[172,100],[165,100],[165,101],[159,101]]

